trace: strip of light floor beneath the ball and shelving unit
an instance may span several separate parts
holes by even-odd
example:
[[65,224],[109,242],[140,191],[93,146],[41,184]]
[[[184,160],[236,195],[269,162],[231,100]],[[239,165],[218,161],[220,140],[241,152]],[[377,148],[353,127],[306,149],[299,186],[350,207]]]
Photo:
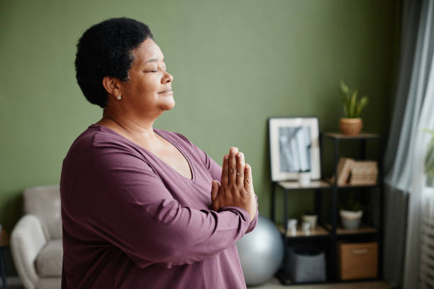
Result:
[[323,285],[282,285],[277,278],[272,278],[266,284],[247,288],[255,289],[389,289],[384,282],[332,283]]

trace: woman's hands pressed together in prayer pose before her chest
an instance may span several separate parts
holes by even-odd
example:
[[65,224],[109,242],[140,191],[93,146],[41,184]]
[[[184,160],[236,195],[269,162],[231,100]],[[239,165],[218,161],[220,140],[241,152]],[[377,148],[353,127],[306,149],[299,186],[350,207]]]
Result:
[[234,206],[247,210],[250,222],[256,215],[256,198],[253,191],[252,168],[245,164],[244,154],[231,147],[223,157],[221,183],[212,181],[211,201],[213,210]]

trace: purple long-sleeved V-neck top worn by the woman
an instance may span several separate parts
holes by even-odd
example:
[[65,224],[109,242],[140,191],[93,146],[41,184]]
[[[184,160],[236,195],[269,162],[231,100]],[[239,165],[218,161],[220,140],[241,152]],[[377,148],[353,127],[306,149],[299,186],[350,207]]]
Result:
[[[192,179],[101,125],[63,161],[60,180],[65,288],[246,288],[235,243],[247,210],[211,207],[221,166],[186,137],[154,132],[179,149]],[[256,196],[257,200],[257,196]]]

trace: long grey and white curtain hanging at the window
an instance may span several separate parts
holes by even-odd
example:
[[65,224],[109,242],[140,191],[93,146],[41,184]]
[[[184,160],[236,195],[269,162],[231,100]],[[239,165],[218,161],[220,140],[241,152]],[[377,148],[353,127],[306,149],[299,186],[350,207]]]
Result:
[[[415,9],[411,1],[406,3],[410,3],[407,8]],[[388,162],[392,165],[385,179],[384,273],[392,285],[399,286],[403,281],[404,289],[434,287],[434,279],[430,281],[430,275],[434,276],[434,273],[423,273],[425,268],[434,271],[434,246],[427,246],[432,240],[428,239],[430,232],[426,229],[427,224],[430,227],[432,223],[429,216],[434,215],[430,211],[434,206],[428,204],[434,201],[433,194],[428,193],[430,188],[425,188],[424,174],[424,157],[431,136],[421,132],[423,128],[434,129],[434,0],[421,1],[420,13],[416,8],[416,15],[418,26],[414,54],[413,57],[404,55],[407,60],[411,59],[412,66],[406,68],[403,65],[406,60],[401,58],[400,90],[396,93],[394,123],[385,159],[386,166]],[[406,75],[409,76],[408,84]],[[427,248],[433,248],[428,253],[433,254],[433,259],[427,259]],[[404,258],[401,250],[405,251]],[[402,260],[403,275],[400,273]],[[404,280],[399,280],[401,276]],[[429,285],[427,282],[432,283]]]

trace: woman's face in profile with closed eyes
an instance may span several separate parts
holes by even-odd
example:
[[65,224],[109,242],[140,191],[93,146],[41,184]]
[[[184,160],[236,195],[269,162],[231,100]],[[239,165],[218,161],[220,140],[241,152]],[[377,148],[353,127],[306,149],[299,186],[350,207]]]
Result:
[[129,81],[121,82],[123,105],[137,118],[160,115],[174,107],[173,77],[166,71],[160,47],[147,39],[133,50],[133,66],[128,70]]

